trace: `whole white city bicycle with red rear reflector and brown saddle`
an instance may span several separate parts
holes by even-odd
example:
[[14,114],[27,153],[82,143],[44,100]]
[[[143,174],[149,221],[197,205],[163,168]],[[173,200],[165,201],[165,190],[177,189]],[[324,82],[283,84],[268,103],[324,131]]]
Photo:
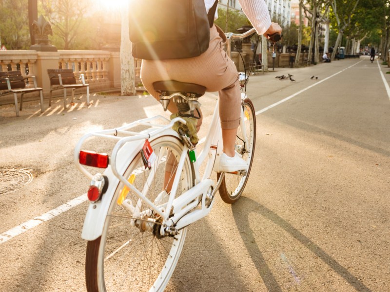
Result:
[[[227,34],[228,53],[232,38],[253,33],[254,29]],[[174,100],[187,103],[193,113],[205,93],[196,84],[167,81],[155,85],[165,110],[169,100]],[[251,171],[256,137],[254,106],[246,93],[241,98],[235,150],[249,166],[246,171],[217,173],[217,181],[211,177],[222,153],[218,102],[200,153],[184,126],[172,129],[176,122],[186,125],[182,117],[170,121],[156,116],[80,139],[75,163],[91,179],[91,202],[82,230],[82,238],[88,240],[88,291],[163,291],[175,270],[187,226],[210,213],[217,190],[227,203],[240,198]],[[138,126],[145,129],[136,132]],[[116,140],[111,155],[81,150],[90,138]],[[105,170],[93,175],[89,170],[95,167]]]

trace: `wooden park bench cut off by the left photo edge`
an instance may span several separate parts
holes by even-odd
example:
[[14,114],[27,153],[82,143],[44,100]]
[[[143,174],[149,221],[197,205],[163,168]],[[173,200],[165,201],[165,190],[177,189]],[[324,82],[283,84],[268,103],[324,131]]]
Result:
[[[26,87],[25,80],[33,79],[34,87]],[[40,94],[40,112],[43,112],[43,90],[37,86],[35,76],[23,77],[20,71],[0,72],[0,96],[14,94],[16,116],[19,117],[18,93],[20,93],[20,110],[23,105],[23,95],[25,93],[39,91]]]

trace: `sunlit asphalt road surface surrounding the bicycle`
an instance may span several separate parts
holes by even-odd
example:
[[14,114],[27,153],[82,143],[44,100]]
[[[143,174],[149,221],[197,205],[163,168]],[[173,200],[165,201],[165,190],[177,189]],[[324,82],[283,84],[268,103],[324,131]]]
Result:
[[[166,291],[390,291],[390,92],[380,74],[389,84],[390,69],[379,64],[362,57],[251,76],[257,137],[244,195],[234,205],[217,198],[189,227]],[[296,81],[275,78],[287,73]],[[62,110],[59,98],[43,114],[28,102],[19,118],[0,108],[2,292],[85,291],[80,196],[89,182],[74,146],[90,130],[161,113],[150,96],[91,100]],[[201,103],[207,125],[215,94]],[[15,188],[5,181],[12,169],[32,181],[4,191]]]

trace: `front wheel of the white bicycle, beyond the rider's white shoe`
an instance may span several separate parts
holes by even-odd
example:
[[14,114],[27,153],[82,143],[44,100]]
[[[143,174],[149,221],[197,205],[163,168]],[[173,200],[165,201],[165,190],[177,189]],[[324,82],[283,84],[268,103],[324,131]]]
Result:
[[[242,137],[242,132],[239,127],[237,130],[235,149],[238,153],[242,154],[242,158],[248,163],[248,169],[247,173],[243,176],[234,173],[225,173],[225,177],[218,188],[218,192],[222,200],[228,204],[233,204],[241,197],[245,185],[248,182],[254,158],[254,146],[256,144],[256,114],[253,103],[249,98],[244,99],[243,108],[245,131],[250,145],[243,145],[244,143],[242,139],[240,139]],[[220,176],[221,173],[217,173],[218,180]]]

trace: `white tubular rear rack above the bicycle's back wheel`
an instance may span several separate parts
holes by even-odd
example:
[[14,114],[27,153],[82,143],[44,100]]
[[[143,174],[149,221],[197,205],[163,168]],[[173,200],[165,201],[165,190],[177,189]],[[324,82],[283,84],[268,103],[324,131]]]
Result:
[[[156,123],[156,120],[163,120],[166,122],[166,124],[158,124]],[[180,122],[184,125],[186,125],[186,121],[180,117],[174,118],[171,121],[168,120],[167,118],[158,115],[152,118],[146,118],[142,120],[135,121],[130,124],[123,125],[119,128],[113,128],[113,129],[107,129],[107,130],[100,130],[96,132],[91,132],[87,133],[84,136],[81,137],[81,139],[78,141],[78,144],[75,147],[75,152],[74,152],[74,162],[76,164],[76,167],[78,170],[84,174],[87,178],[91,179],[93,178],[93,174],[89,172],[84,165],[80,164],[78,161],[78,156],[79,152],[81,150],[81,147],[83,146],[85,140],[88,138],[104,138],[104,139],[111,139],[111,140],[117,140],[116,145],[114,146],[112,153],[111,153],[111,159],[109,164],[112,167],[113,173],[118,174],[117,169],[116,169],[116,157],[117,157],[117,152],[119,149],[127,142],[133,142],[137,140],[143,140],[143,139],[150,139],[161,132],[170,129],[174,126],[176,122]],[[148,126],[149,131],[145,133],[140,133],[140,132],[134,132],[134,131],[129,131],[131,128],[135,128],[137,126]],[[125,137],[119,137],[118,135],[125,135]]]

